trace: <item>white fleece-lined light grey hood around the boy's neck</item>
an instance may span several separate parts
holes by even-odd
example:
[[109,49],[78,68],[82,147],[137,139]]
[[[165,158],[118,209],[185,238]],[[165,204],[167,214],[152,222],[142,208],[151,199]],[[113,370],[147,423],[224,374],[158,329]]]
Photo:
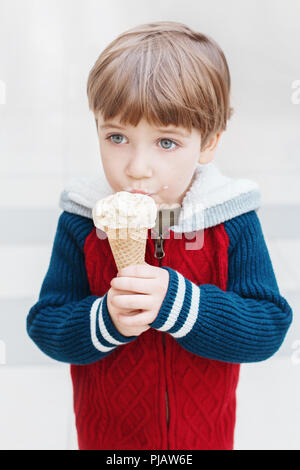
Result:
[[[99,199],[114,191],[105,178],[73,178],[62,191],[61,209],[92,219],[92,209]],[[174,232],[193,232],[213,227],[261,205],[255,181],[231,178],[221,173],[215,162],[198,163],[192,183],[179,207]],[[161,212],[161,211],[159,211]]]

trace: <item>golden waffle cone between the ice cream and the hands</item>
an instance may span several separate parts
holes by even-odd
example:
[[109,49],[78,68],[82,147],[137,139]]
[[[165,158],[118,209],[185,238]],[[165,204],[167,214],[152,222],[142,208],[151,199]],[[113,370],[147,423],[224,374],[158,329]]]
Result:
[[118,271],[131,264],[145,264],[148,229],[104,227]]

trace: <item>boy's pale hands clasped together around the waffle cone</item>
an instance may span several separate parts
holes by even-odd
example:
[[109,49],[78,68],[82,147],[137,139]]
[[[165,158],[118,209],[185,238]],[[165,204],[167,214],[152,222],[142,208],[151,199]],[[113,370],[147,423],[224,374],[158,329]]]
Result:
[[150,264],[135,264],[121,269],[110,284],[107,302],[116,328],[124,336],[138,336],[157,317],[168,290],[169,273]]

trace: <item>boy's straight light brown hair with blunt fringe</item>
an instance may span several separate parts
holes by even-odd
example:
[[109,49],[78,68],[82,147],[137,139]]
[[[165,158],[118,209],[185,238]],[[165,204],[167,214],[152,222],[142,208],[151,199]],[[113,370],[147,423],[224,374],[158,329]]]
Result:
[[221,48],[173,21],[139,25],[112,41],[89,73],[87,95],[95,118],[100,111],[105,121],[118,116],[123,125],[145,118],[158,127],[194,127],[201,149],[226,130],[233,113]]

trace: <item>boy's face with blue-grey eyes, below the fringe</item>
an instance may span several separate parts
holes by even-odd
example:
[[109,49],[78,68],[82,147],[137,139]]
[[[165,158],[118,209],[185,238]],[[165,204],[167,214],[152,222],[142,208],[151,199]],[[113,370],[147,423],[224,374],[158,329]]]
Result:
[[150,193],[158,208],[181,205],[197,162],[213,158],[213,151],[200,152],[201,135],[194,128],[191,133],[175,126],[158,130],[144,119],[136,127],[124,127],[118,119],[104,122],[100,113],[96,118],[103,169],[111,188]]

